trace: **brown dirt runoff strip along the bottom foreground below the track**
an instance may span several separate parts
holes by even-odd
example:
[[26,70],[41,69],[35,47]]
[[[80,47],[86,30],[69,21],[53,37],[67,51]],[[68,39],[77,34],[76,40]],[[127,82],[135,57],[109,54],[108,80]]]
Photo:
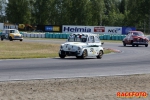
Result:
[[150,100],[150,74],[0,82],[0,100]]

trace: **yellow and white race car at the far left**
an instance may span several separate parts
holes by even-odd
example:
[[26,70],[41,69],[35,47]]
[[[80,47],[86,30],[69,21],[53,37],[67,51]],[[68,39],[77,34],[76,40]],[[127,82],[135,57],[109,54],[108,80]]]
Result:
[[1,34],[1,41],[6,40],[20,40],[23,41],[22,34],[17,29],[4,29]]

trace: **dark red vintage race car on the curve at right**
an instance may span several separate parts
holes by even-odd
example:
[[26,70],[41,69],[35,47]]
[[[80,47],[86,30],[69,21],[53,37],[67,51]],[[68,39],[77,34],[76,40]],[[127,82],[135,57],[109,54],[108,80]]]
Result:
[[122,42],[124,46],[132,45],[134,47],[136,45],[138,47],[139,45],[145,45],[145,47],[148,47],[149,39],[141,31],[129,31]]

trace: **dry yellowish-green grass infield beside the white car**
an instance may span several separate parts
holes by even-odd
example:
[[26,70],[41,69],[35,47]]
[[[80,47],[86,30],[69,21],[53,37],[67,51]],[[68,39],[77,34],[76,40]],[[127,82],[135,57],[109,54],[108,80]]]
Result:
[[[0,59],[53,58],[58,57],[60,44],[1,41]],[[113,52],[104,50],[104,54]]]

